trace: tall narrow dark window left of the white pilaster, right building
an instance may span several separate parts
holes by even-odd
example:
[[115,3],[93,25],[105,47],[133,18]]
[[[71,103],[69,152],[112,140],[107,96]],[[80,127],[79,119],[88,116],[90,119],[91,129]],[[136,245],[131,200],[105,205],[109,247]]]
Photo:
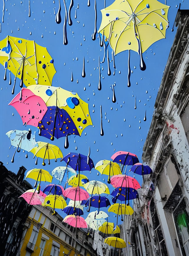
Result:
[[151,203],[150,203],[150,212],[151,212],[154,233],[157,238],[157,246],[160,249],[161,256],[168,256],[165,239],[163,237],[161,225],[159,223],[159,218],[157,215],[157,210],[156,210],[156,206],[153,198],[151,199]]

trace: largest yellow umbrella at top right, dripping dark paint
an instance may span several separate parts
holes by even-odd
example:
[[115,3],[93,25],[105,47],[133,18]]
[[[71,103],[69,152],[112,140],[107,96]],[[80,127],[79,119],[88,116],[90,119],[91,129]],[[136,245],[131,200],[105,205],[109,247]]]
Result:
[[103,34],[115,55],[133,50],[140,55],[140,68],[146,69],[142,58],[151,44],[165,38],[169,6],[156,0],[115,0],[102,9],[102,22],[98,33]]

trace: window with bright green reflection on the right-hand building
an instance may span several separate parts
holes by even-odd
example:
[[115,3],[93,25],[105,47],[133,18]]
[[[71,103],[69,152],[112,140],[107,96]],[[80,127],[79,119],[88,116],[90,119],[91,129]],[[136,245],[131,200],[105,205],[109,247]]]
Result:
[[187,206],[183,199],[174,209],[173,216],[183,255],[189,256],[189,216],[186,208]]

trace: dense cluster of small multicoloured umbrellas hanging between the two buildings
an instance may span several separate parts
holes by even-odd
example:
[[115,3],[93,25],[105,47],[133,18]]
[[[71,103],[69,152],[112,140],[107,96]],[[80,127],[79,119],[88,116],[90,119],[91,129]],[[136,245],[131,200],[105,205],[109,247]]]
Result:
[[[56,209],[61,209],[66,214],[64,223],[75,228],[86,228],[88,232],[89,229],[100,231],[107,235],[105,243],[115,248],[126,247],[126,241],[118,237],[118,219],[120,216],[123,221],[123,216],[133,214],[130,200],[139,198],[137,190],[141,186],[123,170],[131,166],[129,172],[144,177],[152,173],[151,168],[139,163],[135,154],[126,151],[118,151],[111,156],[111,160],[101,160],[95,166],[90,156],[81,153],[71,152],[62,160],[66,166],[56,167],[51,174],[37,168],[28,171],[26,178],[35,180],[35,185],[20,197],[28,204],[52,208],[52,214],[56,214]],[[93,168],[106,175],[107,184],[110,185],[99,180],[89,181],[86,172],[93,172]],[[58,184],[52,184],[53,177],[59,181]],[[50,183],[43,191],[42,182]],[[92,208],[95,211],[91,211]],[[102,208],[106,208],[108,214]],[[84,209],[89,212],[85,219],[82,217]],[[116,223],[108,221],[110,212],[117,215]]]

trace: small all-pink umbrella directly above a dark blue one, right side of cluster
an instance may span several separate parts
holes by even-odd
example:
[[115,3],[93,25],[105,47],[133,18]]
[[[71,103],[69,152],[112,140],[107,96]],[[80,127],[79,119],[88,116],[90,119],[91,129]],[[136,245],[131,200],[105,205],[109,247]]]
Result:
[[110,178],[110,180],[114,188],[125,187],[138,189],[141,187],[136,179],[124,174],[114,175]]

